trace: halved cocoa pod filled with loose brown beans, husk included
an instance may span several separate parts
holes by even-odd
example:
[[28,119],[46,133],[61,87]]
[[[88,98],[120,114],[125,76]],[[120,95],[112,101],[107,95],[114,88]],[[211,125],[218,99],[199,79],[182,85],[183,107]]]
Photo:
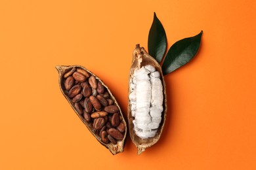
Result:
[[[106,148],[108,148],[108,150],[110,150],[112,154],[115,155],[120,152],[123,152],[125,139],[127,135],[127,124],[125,122],[125,119],[123,118],[123,114],[116,101],[116,98],[110,92],[106,84],[104,84],[104,82],[102,82],[102,80],[100,80],[98,76],[94,75],[91,71],[87,70],[85,67],[82,67],[80,65],[57,65],[56,69],[59,73],[58,83],[60,86],[60,91],[62,92],[64,97],[66,97],[68,103],[70,104],[72,109],[74,109],[75,113],[77,114],[77,116],[79,116],[83,124],[85,124],[85,126],[95,136],[98,142],[105,146]],[[68,76],[72,76],[72,78],[66,81]],[[74,83],[74,80],[77,82],[77,84]],[[85,86],[87,86],[87,84],[89,84],[91,89],[85,89]],[[90,96],[87,96],[87,92]],[[97,93],[103,95],[104,92],[108,92],[108,101],[106,101],[106,99],[103,99],[103,97],[101,96],[98,97],[98,99],[100,100],[98,101],[98,99],[96,98]],[[124,127],[122,127],[121,132],[119,132],[117,129],[112,129],[110,131],[110,133],[112,133],[112,135],[116,137],[116,139],[110,137],[111,142],[108,139],[108,133],[104,131],[106,127],[112,127],[111,123],[108,122],[108,113],[104,112],[104,107],[107,106],[108,103],[111,103],[112,107],[107,108],[106,110],[110,112],[117,110],[117,112],[119,113],[118,116],[120,117],[120,124],[124,125]],[[100,108],[100,105],[102,108]],[[97,110],[102,111],[96,112]],[[94,112],[96,113],[93,114]],[[117,123],[114,122],[114,124],[116,125]],[[106,126],[104,126],[104,124],[106,124]]]

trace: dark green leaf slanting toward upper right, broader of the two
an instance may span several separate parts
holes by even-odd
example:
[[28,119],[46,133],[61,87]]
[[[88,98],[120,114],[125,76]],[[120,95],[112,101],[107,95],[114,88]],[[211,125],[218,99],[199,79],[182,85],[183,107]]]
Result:
[[194,37],[175,42],[167,52],[162,65],[163,75],[167,75],[188,63],[198,52],[203,31]]

